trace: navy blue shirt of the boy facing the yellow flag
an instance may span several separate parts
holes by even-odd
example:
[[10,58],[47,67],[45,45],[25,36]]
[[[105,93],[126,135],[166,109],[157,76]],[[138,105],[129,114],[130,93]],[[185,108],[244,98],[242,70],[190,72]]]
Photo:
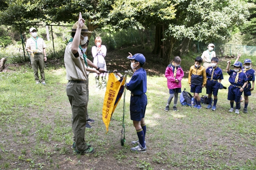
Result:
[[147,92],[147,73],[144,68],[134,72],[130,82],[126,84],[129,91],[134,95],[141,95]]

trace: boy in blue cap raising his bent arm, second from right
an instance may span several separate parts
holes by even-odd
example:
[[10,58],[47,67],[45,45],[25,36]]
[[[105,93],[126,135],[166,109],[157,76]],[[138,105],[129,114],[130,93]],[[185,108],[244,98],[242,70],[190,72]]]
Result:
[[244,72],[242,72],[242,63],[235,62],[233,64],[234,70],[230,70],[231,61],[227,61],[227,74],[230,75],[229,82],[231,85],[228,87],[227,99],[230,100],[230,112],[234,111],[234,101],[236,102],[236,114],[239,114],[239,102],[244,88],[247,85],[247,77]]

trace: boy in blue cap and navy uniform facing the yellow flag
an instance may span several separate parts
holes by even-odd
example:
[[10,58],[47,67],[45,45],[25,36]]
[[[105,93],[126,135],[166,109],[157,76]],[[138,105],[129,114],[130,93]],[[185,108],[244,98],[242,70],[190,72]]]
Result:
[[[131,91],[130,116],[139,138],[138,141],[131,142],[133,145],[138,144],[136,147],[131,147],[131,151],[146,152],[146,125],[144,117],[148,99],[145,94],[147,92],[147,73],[143,68],[146,59],[143,54],[135,54],[134,56],[132,56],[131,53],[129,54],[130,55],[127,58],[131,61],[131,68],[134,71],[134,74],[132,75],[130,82],[126,84],[126,89]],[[116,73],[116,75],[122,77],[122,74],[120,73]]]

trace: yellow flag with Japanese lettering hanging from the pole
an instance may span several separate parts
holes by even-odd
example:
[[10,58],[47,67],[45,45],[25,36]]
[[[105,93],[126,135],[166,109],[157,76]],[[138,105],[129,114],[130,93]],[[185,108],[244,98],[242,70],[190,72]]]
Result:
[[108,76],[108,84],[102,108],[102,120],[105,123],[107,133],[111,116],[114,113],[124,91],[125,78],[126,75],[124,78],[118,80],[113,73],[110,73]]

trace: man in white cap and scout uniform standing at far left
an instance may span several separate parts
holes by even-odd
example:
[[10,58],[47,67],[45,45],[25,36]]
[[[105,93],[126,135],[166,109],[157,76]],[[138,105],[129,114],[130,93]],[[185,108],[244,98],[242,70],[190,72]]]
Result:
[[[40,81],[43,85],[46,85],[44,78],[44,61],[47,60],[46,57],[46,45],[44,40],[37,36],[37,30],[35,28],[30,28],[29,33],[31,38],[26,41],[26,51],[30,53],[30,60],[35,76],[35,83],[39,84]],[[41,80],[38,77],[38,67],[41,74]]]

